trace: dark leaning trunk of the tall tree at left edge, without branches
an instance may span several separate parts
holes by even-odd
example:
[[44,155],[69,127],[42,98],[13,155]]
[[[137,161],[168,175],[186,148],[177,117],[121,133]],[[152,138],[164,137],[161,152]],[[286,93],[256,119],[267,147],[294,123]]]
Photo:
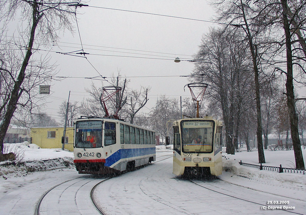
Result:
[[33,7],[33,13],[32,13],[33,22],[32,22],[32,27],[31,27],[30,39],[29,39],[29,44],[28,44],[28,47],[27,47],[27,52],[24,56],[24,60],[22,62],[22,66],[21,66],[19,75],[18,75],[17,80],[14,84],[14,87],[13,87],[13,90],[12,90],[12,93],[11,93],[11,97],[10,97],[9,103],[7,105],[7,110],[6,110],[5,115],[3,117],[2,124],[0,125],[0,148],[1,148],[0,157],[3,156],[3,140],[4,140],[5,134],[7,132],[7,129],[9,127],[10,120],[13,117],[15,110],[17,109],[18,100],[21,97],[21,94],[23,93],[23,89],[21,89],[21,85],[22,85],[22,82],[23,82],[24,77],[25,77],[25,70],[28,66],[30,57],[32,55],[32,46],[33,46],[34,37],[35,37],[35,29],[36,29],[36,26],[37,26],[40,18],[42,17],[42,15],[37,14],[37,6],[38,5],[37,5],[36,2],[34,2],[33,5],[32,5],[32,7]]

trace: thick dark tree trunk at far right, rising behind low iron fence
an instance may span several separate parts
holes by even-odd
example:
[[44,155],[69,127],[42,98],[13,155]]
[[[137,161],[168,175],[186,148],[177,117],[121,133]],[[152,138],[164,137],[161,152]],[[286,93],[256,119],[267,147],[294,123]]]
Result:
[[292,49],[291,49],[291,35],[289,21],[287,17],[288,5],[286,0],[281,0],[283,9],[283,25],[286,38],[286,56],[287,56],[287,81],[286,81],[286,95],[287,95],[287,106],[290,117],[290,130],[291,139],[294,150],[295,165],[297,169],[305,169],[304,159],[302,155],[301,143],[298,132],[298,117],[295,110],[294,101],[294,89],[293,89],[293,62],[292,62]]

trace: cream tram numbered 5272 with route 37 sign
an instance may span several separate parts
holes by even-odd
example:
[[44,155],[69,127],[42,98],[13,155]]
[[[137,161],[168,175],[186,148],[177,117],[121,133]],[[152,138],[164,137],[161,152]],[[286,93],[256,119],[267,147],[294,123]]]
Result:
[[174,121],[173,173],[222,174],[222,122],[212,117]]

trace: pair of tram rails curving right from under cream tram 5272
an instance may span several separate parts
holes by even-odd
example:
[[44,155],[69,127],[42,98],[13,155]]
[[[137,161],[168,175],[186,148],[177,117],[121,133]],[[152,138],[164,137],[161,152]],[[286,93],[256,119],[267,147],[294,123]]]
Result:
[[[266,204],[258,203],[258,202],[255,202],[255,201],[247,200],[247,199],[244,199],[244,198],[240,198],[240,197],[237,197],[237,196],[234,196],[234,195],[230,195],[230,194],[227,194],[227,193],[224,193],[224,192],[221,192],[221,191],[217,191],[217,190],[215,190],[215,189],[208,188],[208,187],[206,187],[206,186],[204,186],[204,185],[198,184],[198,183],[194,182],[193,180],[188,180],[188,181],[191,182],[191,183],[193,183],[193,184],[196,184],[197,186],[200,186],[200,187],[202,187],[202,188],[205,188],[205,189],[207,189],[207,190],[210,190],[210,191],[219,193],[219,194],[221,194],[221,195],[226,195],[226,196],[229,196],[229,197],[232,197],[232,198],[235,198],[235,199],[239,199],[239,200],[242,200],[242,201],[245,201],[245,202],[249,202],[249,203],[252,203],[252,204],[256,204],[256,205],[261,206],[262,208],[263,208],[263,207],[266,207],[266,208],[267,208],[268,206],[271,206],[271,205],[266,205]],[[221,181],[223,181],[223,180],[221,180]],[[202,181],[202,182],[205,183],[205,181]],[[225,181],[224,181],[224,182],[225,182]],[[232,183],[228,183],[228,184],[232,184]],[[233,184],[233,185],[238,186],[238,187],[241,187],[241,188],[245,188],[245,187],[243,187],[243,186],[239,186],[239,185],[236,185],[236,184]],[[217,188],[217,189],[221,189],[221,190],[223,189],[223,188],[217,187],[217,186],[215,186],[215,185],[212,185],[212,186],[215,187],[215,188]],[[248,188],[246,188],[246,189],[248,189]],[[256,191],[256,190],[254,190],[254,191]],[[259,191],[259,192],[262,192],[262,191]],[[264,193],[266,193],[266,192],[264,192]],[[268,193],[268,194],[270,194],[270,193]],[[270,195],[274,195],[274,194],[270,194]],[[289,197],[286,197],[286,198],[289,198]],[[291,198],[290,198],[290,199],[291,199]],[[300,200],[299,200],[299,201],[300,201]],[[288,213],[293,213],[293,214],[305,215],[305,213],[297,213],[297,212],[290,211],[290,210],[285,210],[285,209],[276,209],[276,210],[282,210],[282,211],[285,211],[285,212],[288,212]]]

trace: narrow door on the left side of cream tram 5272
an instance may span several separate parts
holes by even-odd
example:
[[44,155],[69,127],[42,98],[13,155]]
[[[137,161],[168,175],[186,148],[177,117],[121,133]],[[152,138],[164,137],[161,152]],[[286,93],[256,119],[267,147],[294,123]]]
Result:
[[174,126],[173,138],[173,173],[178,175],[181,172],[181,133],[178,126]]

